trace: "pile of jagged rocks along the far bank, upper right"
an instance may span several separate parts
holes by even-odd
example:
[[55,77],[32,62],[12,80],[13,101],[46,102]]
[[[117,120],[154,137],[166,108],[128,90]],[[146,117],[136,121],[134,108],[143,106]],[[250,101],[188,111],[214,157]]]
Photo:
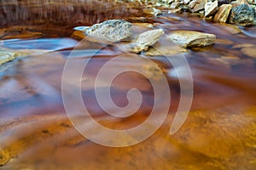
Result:
[[[160,14],[155,8],[168,8],[170,12],[190,12],[204,14],[207,20],[228,22],[240,26],[256,24],[255,0],[152,0],[144,1],[152,14]],[[147,11],[147,10],[145,10]]]

